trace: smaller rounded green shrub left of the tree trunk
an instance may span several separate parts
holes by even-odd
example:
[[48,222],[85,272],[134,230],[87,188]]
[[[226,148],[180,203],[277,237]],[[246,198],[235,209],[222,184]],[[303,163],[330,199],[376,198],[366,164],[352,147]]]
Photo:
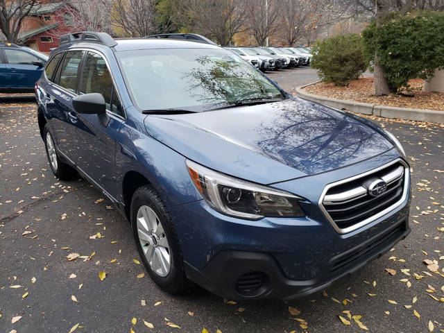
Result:
[[335,85],[347,85],[368,67],[360,35],[350,33],[318,41],[312,53],[311,67],[319,70],[325,82]]

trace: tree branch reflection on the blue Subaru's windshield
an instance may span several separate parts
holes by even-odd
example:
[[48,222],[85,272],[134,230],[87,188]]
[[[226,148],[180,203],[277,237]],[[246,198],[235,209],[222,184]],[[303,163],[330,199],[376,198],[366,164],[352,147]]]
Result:
[[242,99],[259,99],[280,94],[255,69],[229,58],[202,56],[182,77],[189,81],[189,94],[207,105],[232,103]]

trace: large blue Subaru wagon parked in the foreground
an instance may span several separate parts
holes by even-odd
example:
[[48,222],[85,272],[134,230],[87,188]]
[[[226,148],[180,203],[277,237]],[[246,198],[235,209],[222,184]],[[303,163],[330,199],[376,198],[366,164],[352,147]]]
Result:
[[230,299],[298,298],[409,233],[398,140],[294,98],[219,46],[62,37],[37,83],[53,173],[133,225],[151,278]]

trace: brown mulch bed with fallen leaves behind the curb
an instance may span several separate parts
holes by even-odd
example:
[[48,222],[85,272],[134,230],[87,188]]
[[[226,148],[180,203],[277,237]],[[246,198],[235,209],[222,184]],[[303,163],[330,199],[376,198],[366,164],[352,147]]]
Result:
[[314,95],[327,96],[334,99],[357,101],[375,105],[395,106],[398,108],[439,110],[444,111],[444,93],[422,92],[424,80],[416,78],[410,80],[413,97],[402,95],[375,96],[373,77],[359,78],[353,80],[346,87],[336,87],[332,83],[316,83],[305,87],[305,92]]

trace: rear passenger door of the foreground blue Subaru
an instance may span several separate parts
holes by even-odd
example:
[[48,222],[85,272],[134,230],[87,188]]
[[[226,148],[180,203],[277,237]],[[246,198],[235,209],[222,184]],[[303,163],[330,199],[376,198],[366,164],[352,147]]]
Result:
[[77,117],[72,108],[72,99],[77,96],[80,63],[84,51],[67,51],[65,58],[58,66],[53,77],[51,89],[46,89],[47,108],[51,114],[50,125],[58,151],[74,162],[75,145],[72,142],[72,132],[76,126]]

